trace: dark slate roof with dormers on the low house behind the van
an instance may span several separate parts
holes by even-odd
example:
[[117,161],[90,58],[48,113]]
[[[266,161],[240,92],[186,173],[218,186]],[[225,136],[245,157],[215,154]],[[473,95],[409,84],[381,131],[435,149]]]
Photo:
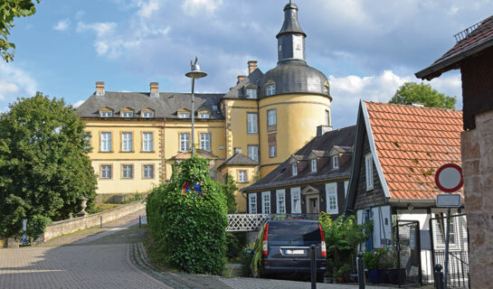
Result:
[[[355,142],[355,135],[356,126],[347,126],[335,131],[327,132],[320,137],[313,138],[294,155],[302,155],[304,156],[304,159],[308,159],[308,154],[313,150],[329,152],[334,145],[352,146]],[[243,188],[242,191],[257,191],[300,182],[316,182],[346,177],[349,176],[350,169],[351,162],[346,162],[344,165],[340,166],[338,170],[333,170],[330,163],[327,162],[326,165],[318,168],[318,172],[316,173],[311,173],[309,165],[307,165],[302,172],[298,172],[297,176],[292,176],[288,159],[284,163],[281,163],[275,170],[263,177],[259,182],[255,182],[251,186]]]

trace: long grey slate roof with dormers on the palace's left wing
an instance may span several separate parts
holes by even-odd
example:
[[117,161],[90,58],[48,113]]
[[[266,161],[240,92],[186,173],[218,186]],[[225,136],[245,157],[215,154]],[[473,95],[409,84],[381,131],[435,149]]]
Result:
[[[195,93],[195,111],[207,108],[211,112],[211,119],[223,119],[219,110],[213,111],[224,94]],[[119,117],[119,110],[125,107],[134,109],[134,116],[140,117],[140,110],[149,107],[154,110],[153,118],[178,118],[176,112],[180,108],[191,110],[192,103],[189,93],[160,92],[159,98],[150,98],[148,92],[112,92],[106,91],[103,96],[93,94],[80,107],[77,113],[81,117],[100,117],[102,107],[113,109],[113,116]]]

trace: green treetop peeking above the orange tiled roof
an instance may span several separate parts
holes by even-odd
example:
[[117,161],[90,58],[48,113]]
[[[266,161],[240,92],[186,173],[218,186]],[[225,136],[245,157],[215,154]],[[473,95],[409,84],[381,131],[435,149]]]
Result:
[[436,89],[431,89],[429,84],[406,82],[401,86],[390,103],[410,104],[422,103],[425,107],[455,108],[456,97],[449,97]]

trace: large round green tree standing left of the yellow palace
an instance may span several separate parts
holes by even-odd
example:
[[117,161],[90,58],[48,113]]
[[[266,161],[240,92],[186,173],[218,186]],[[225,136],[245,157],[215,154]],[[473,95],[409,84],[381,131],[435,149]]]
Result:
[[81,210],[81,197],[92,208],[97,178],[88,136],[73,107],[41,92],[0,116],[0,235],[18,237],[28,219],[34,237],[43,224]]

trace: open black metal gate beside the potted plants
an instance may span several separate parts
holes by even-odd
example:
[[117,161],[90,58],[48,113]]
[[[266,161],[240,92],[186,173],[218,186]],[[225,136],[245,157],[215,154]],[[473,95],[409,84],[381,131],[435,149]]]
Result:
[[399,287],[422,284],[420,222],[399,219],[394,228]]

